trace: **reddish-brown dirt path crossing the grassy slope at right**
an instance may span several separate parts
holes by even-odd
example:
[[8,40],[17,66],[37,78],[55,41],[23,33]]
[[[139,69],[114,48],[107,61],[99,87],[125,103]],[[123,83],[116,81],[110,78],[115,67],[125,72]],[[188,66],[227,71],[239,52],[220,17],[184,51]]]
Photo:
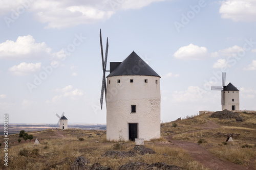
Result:
[[[220,128],[215,122],[211,120],[206,120],[206,123],[203,125],[198,125],[198,127],[202,129],[216,129]],[[167,140],[172,142],[172,147],[176,146],[182,148],[187,151],[188,154],[196,161],[200,162],[205,167],[211,168],[212,170],[254,170],[253,165],[251,164],[248,167],[241,166],[238,164],[234,164],[232,162],[228,162],[226,160],[220,159],[211,153],[209,153],[206,149],[201,147],[198,143],[186,142],[182,140],[174,140],[172,135],[165,137]],[[170,145],[170,144],[168,144]]]

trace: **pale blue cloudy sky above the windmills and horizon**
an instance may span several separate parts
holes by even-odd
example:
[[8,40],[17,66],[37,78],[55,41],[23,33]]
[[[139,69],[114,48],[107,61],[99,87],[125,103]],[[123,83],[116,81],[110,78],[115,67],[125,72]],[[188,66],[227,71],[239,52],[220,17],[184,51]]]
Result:
[[0,121],[105,124],[109,62],[135,51],[160,76],[161,121],[221,110],[222,72],[256,110],[254,0],[0,1]]

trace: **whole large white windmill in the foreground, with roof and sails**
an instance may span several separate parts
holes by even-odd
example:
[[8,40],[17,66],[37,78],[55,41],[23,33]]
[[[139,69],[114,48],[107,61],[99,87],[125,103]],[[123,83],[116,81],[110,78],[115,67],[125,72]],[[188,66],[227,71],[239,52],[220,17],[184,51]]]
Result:
[[[103,95],[106,99],[106,139],[150,140],[160,137],[160,76],[135,52],[122,62],[110,63],[110,74],[105,81],[106,58],[101,56],[103,79],[101,88],[101,108]],[[107,86],[106,86],[107,83]]]

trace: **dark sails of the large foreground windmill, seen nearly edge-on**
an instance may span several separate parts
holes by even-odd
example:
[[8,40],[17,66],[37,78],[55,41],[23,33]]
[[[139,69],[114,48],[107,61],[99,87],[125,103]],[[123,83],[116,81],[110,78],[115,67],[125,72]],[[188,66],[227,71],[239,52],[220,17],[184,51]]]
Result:
[[105,78],[105,72],[106,72],[106,60],[108,59],[108,51],[109,51],[109,39],[106,38],[106,52],[105,52],[105,60],[104,60],[103,47],[102,47],[102,38],[101,38],[101,29],[100,29],[99,37],[100,37],[100,48],[101,48],[102,70],[103,70],[101,94],[100,94],[100,106],[101,106],[101,109],[102,109],[104,91],[105,91],[105,100],[106,100],[106,78]]

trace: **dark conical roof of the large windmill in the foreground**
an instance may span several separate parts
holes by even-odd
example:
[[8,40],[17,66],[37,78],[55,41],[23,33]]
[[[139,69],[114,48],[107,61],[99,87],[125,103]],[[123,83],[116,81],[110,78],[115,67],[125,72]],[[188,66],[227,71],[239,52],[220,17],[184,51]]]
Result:
[[111,76],[157,76],[160,77],[135,52],[132,52],[107,77]]

